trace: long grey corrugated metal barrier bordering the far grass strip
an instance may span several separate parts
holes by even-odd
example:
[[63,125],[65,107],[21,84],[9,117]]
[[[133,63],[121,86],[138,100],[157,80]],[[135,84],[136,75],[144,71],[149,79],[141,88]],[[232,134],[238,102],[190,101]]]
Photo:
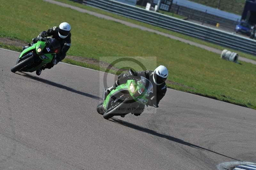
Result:
[[175,32],[256,55],[255,40],[163,15],[158,12],[147,11],[136,6],[119,3],[113,0],[83,0],[83,3],[154,26],[163,27]]

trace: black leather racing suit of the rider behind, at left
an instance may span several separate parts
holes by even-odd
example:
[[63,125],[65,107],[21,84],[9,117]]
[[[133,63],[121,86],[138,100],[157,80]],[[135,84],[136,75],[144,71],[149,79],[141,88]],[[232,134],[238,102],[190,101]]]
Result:
[[[41,32],[40,35],[42,37],[52,36],[52,38],[55,38],[59,41],[61,50],[60,50],[60,53],[57,54],[57,60],[58,60],[58,62],[60,62],[61,60],[63,60],[66,57],[66,53],[71,46],[71,33],[69,33],[69,35],[66,38],[60,38],[58,31],[59,31],[59,27],[52,27],[52,28],[48,29],[47,31]],[[36,38],[33,38],[31,44],[36,43],[36,42],[37,42]],[[48,63],[47,66],[45,66],[45,68],[49,68],[49,69],[52,67],[53,67],[52,63]]]

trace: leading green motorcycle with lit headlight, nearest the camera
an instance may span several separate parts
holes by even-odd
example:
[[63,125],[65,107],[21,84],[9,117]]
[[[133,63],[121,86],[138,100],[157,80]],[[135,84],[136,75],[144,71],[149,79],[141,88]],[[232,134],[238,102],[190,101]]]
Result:
[[121,116],[131,112],[132,108],[147,104],[150,93],[153,93],[152,83],[145,77],[127,80],[113,89],[103,102],[97,106],[97,112],[105,119]]

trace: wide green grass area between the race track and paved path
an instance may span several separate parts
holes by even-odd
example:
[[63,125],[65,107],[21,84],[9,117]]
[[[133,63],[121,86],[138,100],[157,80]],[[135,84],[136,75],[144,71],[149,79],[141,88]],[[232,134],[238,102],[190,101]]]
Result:
[[[30,7],[38,4],[40,8]],[[165,65],[169,70],[168,79],[184,85],[168,84],[173,89],[256,109],[256,65],[228,62],[216,53],[177,40],[40,0],[1,3],[0,16],[0,36],[29,43],[41,31],[67,21],[72,27],[72,46],[68,55],[105,62],[111,62],[114,57],[143,56],[139,58],[147,69]],[[154,57],[148,58],[150,56]],[[64,61],[102,70],[100,66],[69,59]],[[127,67],[130,66],[134,67],[134,64],[127,63]]]

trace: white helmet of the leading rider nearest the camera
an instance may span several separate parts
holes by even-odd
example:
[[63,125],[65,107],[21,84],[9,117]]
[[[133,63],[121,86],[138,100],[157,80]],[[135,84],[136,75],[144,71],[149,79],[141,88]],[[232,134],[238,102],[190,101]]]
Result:
[[168,70],[165,66],[158,66],[153,73],[153,80],[156,85],[161,85],[168,77]]

